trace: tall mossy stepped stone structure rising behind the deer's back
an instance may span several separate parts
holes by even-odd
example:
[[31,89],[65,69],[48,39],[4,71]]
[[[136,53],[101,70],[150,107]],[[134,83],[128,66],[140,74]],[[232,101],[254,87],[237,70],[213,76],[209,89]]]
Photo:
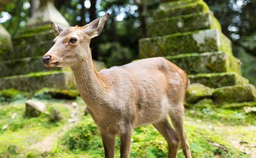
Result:
[[[148,24],[148,38],[139,40],[140,58],[163,56],[187,72],[191,83],[220,89],[248,87],[239,60],[232,54],[231,41],[206,3],[163,1]],[[250,89],[255,88],[246,91]]]

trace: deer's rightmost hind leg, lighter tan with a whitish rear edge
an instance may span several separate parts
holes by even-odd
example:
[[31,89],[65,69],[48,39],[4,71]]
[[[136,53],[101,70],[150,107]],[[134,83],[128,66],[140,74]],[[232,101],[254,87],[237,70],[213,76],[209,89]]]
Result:
[[179,140],[181,142],[182,150],[185,155],[185,158],[192,158],[190,153],[189,143],[183,128],[183,119],[184,119],[183,104],[178,104],[178,106],[173,106],[173,108],[170,111],[170,118],[175,128],[176,134],[179,137]]

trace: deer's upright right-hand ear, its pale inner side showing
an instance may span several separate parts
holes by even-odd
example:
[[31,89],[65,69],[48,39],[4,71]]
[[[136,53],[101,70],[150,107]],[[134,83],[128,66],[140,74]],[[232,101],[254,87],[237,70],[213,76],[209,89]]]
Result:
[[88,32],[91,38],[99,36],[108,18],[109,13],[85,25],[86,32]]

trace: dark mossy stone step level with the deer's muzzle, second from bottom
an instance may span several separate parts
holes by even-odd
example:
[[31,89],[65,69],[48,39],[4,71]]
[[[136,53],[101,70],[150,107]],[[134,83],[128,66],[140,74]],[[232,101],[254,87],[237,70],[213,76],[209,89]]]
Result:
[[[47,68],[41,62],[42,56],[12,59],[0,62],[0,77],[11,75],[24,75],[30,72],[60,71],[61,68]],[[94,61],[97,71],[105,68],[104,62]],[[11,71],[10,71],[11,67]]]

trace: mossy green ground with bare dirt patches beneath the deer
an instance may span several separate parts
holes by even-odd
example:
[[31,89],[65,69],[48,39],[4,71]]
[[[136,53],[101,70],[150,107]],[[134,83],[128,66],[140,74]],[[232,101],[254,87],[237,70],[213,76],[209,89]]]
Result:
[[[46,114],[24,116],[24,100],[0,106],[0,158],[100,158],[104,149],[99,131],[85,104],[76,100],[42,100],[47,110],[60,110],[63,120],[50,122]],[[72,106],[77,102],[79,108]],[[74,103],[73,103],[74,104]],[[17,114],[14,114],[17,113]],[[14,117],[14,115],[16,115]],[[193,158],[256,157],[256,116],[243,108],[224,109],[201,102],[185,110],[185,131]],[[116,137],[116,157],[119,157]],[[131,158],[166,158],[167,144],[152,125],[133,131]],[[182,149],[178,158],[184,158]]]

